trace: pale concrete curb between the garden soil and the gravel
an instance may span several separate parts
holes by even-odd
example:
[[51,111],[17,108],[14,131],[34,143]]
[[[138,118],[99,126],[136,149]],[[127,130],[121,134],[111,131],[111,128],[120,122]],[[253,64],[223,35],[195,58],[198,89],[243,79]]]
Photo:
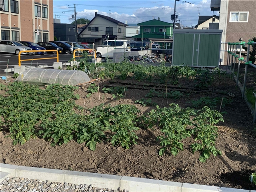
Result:
[[[34,168],[0,163],[1,181],[3,177],[16,176],[29,179],[48,180],[50,182],[67,182],[73,184],[92,184],[100,188],[129,190],[129,192],[256,192],[224,187],[178,183],[145,178],[118,175],[97,174],[89,172]],[[7,174],[7,175],[6,175]]]

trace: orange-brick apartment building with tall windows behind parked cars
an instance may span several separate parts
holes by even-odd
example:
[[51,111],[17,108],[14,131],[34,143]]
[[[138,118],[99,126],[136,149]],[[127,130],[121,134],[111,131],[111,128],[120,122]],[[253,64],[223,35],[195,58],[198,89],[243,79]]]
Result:
[[0,0],[0,23],[0,40],[53,40],[53,0]]

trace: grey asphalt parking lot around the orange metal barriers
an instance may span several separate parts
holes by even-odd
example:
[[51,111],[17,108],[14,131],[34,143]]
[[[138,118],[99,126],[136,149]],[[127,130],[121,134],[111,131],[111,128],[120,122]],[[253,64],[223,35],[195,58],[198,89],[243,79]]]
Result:
[[[56,54],[45,54],[45,55],[21,55],[20,59],[39,59],[39,58],[50,58],[56,57]],[[59,55],[59,62],[68,62],[72,58],[72,55],[67,54],[60,54]],[[47,64],[48,67],[53,65],[53,62],[56,62],[57,59],[47,59],[47,60],[34,60],[34,61],[23,61],[22,66],[38,66]],[[8,64],[8,68],[14,68],[14,66],[18,66],[18,55],[16,54],[8,54],[8,53],[0,53],[0,76],[6,76],[6,70]],[[12,75],[13,73],[8,73]]]

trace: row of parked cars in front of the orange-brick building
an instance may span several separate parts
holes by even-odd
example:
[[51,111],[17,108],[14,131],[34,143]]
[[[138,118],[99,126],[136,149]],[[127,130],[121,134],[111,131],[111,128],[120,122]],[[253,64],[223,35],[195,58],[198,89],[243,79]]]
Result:
[[[73,54],[73,51],[77,53],[82,53],[80,49],[90,49],[86,44],[78,44],[76,42],[68,41],[50,41],[50,42],[38,42],[33,43],[29,41],[10,41],[10,40],[1,40],[0,41],[0,52],[6,53],[15,53],[19,54],[20,51],[29,51],[29,50],[40,50],[41,52],[22,52],[21,54],[46,54],[45,50],[56,50],[52,52],[56,54]],[[92,50],[87,51],[91,54]]]

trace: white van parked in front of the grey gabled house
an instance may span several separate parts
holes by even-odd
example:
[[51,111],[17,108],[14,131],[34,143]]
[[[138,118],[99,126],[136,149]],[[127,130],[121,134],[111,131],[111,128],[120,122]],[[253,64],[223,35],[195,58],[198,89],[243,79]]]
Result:
[[113,57],[115,50],[116,50],[116,52],[131,51],[130,50],[130,40],[108,40],[108,41],[104,41],[102,46],[96,48],[96,56],[98,58]]

